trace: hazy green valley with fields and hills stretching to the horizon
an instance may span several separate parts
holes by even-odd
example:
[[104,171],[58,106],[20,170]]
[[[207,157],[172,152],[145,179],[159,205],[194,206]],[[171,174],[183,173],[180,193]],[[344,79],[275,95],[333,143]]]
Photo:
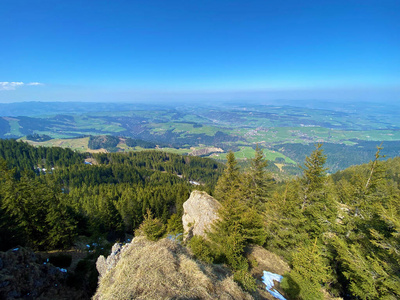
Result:
[[[225,161],[231,150],[243,164],[259,144],[274,163],[273,171],[286,169],[292,175],[315,143],[324,144],[330,172],[370,161],[381,143],[387,157],[400,155],[400,108],[396,104],[281,104],[70,103],[67,107],[65,103],[27,102],[23,110],[18,103],[0,104],[0,137],[79,152],[147,148],[220,161]],[[48,138],[26,138],[32,135]],[[93,149],[90,136],[115,136],[119,140],[112,147]],[[142,141],[142,145],[134,145],[132,140]],[[210,150],[213,148],[220,150]],[[278,169],[276,164],[283,166]]]

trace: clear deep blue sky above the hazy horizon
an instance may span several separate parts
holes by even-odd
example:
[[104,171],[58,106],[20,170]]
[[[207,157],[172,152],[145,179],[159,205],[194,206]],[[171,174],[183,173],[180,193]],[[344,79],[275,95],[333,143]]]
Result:
[[400,100],[400,1],[0,0],[0,102]]

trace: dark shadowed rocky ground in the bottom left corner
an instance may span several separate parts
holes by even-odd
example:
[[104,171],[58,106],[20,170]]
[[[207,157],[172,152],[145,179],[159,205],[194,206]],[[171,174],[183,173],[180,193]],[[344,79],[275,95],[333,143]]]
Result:
[[84,299],[67,286],[67,276],[30,249],[0,252],[0,299]]

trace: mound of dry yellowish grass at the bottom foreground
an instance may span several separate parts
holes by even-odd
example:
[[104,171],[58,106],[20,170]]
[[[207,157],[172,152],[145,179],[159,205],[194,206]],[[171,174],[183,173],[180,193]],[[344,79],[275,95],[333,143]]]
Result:
[[194,260],[186,248],[137,237],[100,279],[94,299],[252,299],[221,266]]

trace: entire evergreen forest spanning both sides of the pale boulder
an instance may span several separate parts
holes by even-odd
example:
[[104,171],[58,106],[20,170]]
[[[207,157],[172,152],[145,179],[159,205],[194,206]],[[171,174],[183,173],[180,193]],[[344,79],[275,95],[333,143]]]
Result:
[[400,158],[383,161],[382,152],[328,175],[317,144],[301,175],[277,182],[258,147],[241,170],[232,152],[224,167],[157,151],[89,157],[0,141],[0,245],[58,249],[81,235],[177,233],[189,181],[197,181],[222,208],[209,239],[188,246],[201,260],[230,266],[244,289],[255,289],[246,246],[259,244],[290,263],[281,284],[289,299],[398,299]]

